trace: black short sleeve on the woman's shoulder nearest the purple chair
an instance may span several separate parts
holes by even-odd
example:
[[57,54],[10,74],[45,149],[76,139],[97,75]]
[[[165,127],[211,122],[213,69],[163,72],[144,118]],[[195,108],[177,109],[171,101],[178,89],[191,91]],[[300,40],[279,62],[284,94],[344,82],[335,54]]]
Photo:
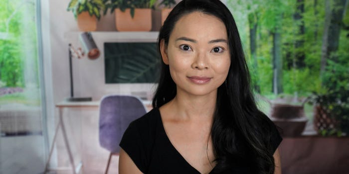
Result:
[[130,156],[142,173],[146,173],[146,152],[137,125],[132,122],[126,129],[120,147]]

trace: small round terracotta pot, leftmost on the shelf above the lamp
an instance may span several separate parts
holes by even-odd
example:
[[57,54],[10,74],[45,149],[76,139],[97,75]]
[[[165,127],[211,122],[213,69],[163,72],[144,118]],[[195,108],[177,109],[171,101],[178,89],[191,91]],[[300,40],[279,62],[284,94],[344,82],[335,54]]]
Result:
[[80,31],[96,31],[97,18],[90,16],[88,11],[81,12],[77,17],[78,27]]

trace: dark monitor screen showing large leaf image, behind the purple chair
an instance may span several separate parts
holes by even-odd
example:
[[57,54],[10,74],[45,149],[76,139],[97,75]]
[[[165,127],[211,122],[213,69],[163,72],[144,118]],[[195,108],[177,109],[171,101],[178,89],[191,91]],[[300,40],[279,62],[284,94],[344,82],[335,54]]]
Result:
[[104,43],[106,84],[157,83],[160,55],[155,42]]

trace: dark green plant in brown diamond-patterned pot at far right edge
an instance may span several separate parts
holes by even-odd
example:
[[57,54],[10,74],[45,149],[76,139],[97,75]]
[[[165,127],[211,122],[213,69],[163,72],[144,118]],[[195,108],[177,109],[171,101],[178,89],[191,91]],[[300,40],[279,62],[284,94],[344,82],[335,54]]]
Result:
[[328,62],[323,89],[314,92],[314,128],[322,136],[349,136],[348,63]]

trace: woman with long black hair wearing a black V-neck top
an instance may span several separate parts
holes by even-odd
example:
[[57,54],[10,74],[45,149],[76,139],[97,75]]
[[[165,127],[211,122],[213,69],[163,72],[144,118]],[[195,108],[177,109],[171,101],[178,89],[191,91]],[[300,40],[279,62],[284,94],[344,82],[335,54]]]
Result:
[[235,21],[220,0],[179,2],[158,38],[154,109],[120,143],[120,174],[280,174],[282,138],[256,107]]

